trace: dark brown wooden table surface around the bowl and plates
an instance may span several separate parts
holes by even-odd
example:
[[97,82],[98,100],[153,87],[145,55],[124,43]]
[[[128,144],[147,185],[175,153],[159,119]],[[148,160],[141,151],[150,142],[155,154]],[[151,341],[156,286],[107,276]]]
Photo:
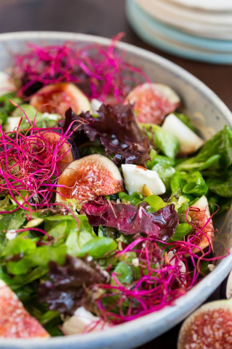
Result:
[[[232,66],[186,60],[154,49],[130,28],[124,8],[124,0],[1,0],[0,32],[58,30],[112,37],[123,31],[126,34],[123,41],[158,53],[185,68],[232,110]],[[174,327],[140,349],[175,349],[178,329],[179,326]]]

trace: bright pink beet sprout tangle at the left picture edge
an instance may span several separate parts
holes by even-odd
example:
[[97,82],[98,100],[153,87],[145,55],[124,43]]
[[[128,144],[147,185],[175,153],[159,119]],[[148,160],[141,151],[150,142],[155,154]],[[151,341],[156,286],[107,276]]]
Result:
[[[23,132],[20,129],[22,118],[16,130],[10,133],[4,133],[0,125],[0,194],[10,195],[17,205],[1,214],[20,208],[29,212],[50,209],[54,205],[53,195],[57,192],[61,173],[59,163],[71,151],[71,145],[65,153],[61,148],[74,131],[70,132],[72,125],[65,133],[60,127],[41,129],[36,126],[35,119],[33,122],[27,119],[30,127]],[[77,123],[77,127],[80,125]],[[45,134],[52,131],[58,131],[60,136],[50,143]]]

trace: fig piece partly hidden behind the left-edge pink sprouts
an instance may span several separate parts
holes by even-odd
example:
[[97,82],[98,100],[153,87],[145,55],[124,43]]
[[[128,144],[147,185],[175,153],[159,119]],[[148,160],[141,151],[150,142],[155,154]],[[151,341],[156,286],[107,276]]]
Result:
[[[41,132],[42,140],[45,139],[48,141],[50,146],[55,147],[56,144],[59,146],[58,157],[65,154],[58,162],[59,171],[62,172],[65,167],[72,162],[75,158],[77,158],[77,150],[75,149],[75,144],[72,144],[72,148],[70,147],[70,143],[67,141],[61,140],[61,135],[57,132],[45,131]],[[46,142],[44,140],[44,143]],[[59,144],[61,143],[61,144]],[[45,144],[46,146],[46,144]]]

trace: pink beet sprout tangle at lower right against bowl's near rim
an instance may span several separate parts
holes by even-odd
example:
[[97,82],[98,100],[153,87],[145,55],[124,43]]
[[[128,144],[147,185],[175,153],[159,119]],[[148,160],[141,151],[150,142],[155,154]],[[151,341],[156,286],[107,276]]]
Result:
[[[202,227],[197,227],[188,220],[189,211],[203,212],[195,207],[187,210],[186,221],[193,229],[183,240],[163,242],[152,235],[140,237],[115,254],[115,258],[124,257],[122,260],[126,261],[129,252],[136,252],[138,261],[135,269],[139,278],[131,284],[122,284],[119,276],[112,272],[111,284],[97,285],[101,296],[93,309],[102,320],[120,324],[173,304],[198,282],[202,274],[201,261],[210,262],[225,257],[209,257],[211,243],[204,229],[216,212]],[[207,251],[199,246],[203,235],[208,239]],[[134,267],[133,263],[127,264]],[[96,291],[96,285],[92,288],[90,292]]]

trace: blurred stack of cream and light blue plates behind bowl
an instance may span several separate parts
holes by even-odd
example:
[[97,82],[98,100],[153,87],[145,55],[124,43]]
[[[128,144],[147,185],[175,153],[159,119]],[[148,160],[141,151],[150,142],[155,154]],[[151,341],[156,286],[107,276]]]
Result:
[[185,58],[232,64],[232,0],[127,0],[135,32]]

